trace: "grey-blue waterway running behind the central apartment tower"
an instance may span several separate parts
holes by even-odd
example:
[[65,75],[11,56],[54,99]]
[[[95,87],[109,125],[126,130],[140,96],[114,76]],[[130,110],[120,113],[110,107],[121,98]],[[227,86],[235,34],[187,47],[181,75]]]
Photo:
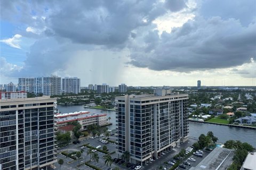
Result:
[[[84,108],[83,105],[74,106],[63,106],[58,105],[58,109],[61,113],[77,112],[77,111],[89,111],[90,113],[105,113],[107,118],[111,117],[108,129],[114,130],[116,128],[116,112],[115,111],[104,111],[100,109]],[[240,140],[241,142],[250,143],[256,147],[256,130],[235,128],[224,125],[189,122],[189,137],[198,138],[200,134],[212,131],[213,134],[218,137],[218,142],[225,143],[227,140]]]

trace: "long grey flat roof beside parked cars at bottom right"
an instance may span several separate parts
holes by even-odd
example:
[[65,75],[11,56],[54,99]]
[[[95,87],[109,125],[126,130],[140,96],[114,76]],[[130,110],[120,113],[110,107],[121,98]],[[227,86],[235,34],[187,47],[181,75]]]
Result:
[[232,162],[233,149],[215,148],[196,167],[197,170],[225,170]]

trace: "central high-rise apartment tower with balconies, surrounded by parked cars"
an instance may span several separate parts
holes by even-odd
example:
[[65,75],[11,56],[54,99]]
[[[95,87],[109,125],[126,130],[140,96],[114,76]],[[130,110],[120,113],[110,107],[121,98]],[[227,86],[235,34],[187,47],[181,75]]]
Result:
[[118,145],[131,163],[146,163],[162,151],[172,150],[188,137],[188,94],[156,90],[154,95],[116,97]]

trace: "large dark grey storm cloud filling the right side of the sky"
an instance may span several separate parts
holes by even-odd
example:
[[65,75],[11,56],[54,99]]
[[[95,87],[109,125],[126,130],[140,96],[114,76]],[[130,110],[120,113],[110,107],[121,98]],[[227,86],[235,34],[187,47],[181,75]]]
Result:
[[[131,64],[152,70],[189,72],[242,65],[256,56],[256,24],[243,27],[234,19],[196,18],[145,44],[131,54]],[[142,51],[142,50],[141,50]]]

